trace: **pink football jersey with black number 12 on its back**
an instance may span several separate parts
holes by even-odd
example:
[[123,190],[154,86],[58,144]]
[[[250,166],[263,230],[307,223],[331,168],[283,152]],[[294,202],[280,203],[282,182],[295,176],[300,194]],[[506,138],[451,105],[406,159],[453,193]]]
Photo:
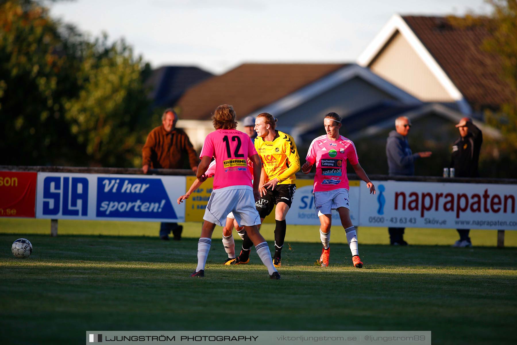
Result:
[[200,158],[216,158],[214,189],[231,186],[250,186],[248,158],[256,155],[256,149],[248,134],[236,129],[218,129],[205,139]]

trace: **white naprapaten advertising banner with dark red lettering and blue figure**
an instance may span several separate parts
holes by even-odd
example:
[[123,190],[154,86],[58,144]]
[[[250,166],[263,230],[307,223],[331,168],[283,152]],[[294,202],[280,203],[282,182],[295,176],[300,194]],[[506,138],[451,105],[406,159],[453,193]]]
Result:
[[361,182],[359,225],[368,227],[517,230],[517,185]]

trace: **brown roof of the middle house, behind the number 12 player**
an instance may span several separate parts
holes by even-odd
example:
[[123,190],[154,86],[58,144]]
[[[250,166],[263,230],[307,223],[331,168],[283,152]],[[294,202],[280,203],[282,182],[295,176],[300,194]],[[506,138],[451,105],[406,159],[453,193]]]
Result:
[[344,66],[244,64],[189,88],[175,105],[181,118],[209,119],[220,104],[232,104],[241,118]]

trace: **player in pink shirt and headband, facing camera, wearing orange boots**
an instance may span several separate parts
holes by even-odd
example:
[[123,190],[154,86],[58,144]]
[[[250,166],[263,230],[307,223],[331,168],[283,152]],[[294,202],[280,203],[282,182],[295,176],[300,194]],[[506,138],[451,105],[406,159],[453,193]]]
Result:
[[370,188],[370,194],[375,194],[375,186],[361,168],[352,140],[339,135],[341,117],[336,113],[328,113],[323,120],[323,126],[327,134],[312,141],[306,162],[301,167],[301,171],[308,174],[316,163],[313,189],[314,206],[320,217],[320,239],[323,244],[319,262],[322,267],[328,266],[332,209],[337,209],[341,224],[345,229],[346,241],[352,251],[352,262],[355,267],[362,268],[357,248],[356,228],[350,219],[346,160],[348,159],[357,176],[366,182],[366,186]]

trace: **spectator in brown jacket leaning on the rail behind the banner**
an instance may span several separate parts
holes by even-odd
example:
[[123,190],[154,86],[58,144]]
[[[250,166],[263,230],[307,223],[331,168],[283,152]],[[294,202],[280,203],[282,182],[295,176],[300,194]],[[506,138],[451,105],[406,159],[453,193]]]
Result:
[[[176,128],[178,115],[171,108],[165,109],[162,125],[151,130],[142,149],[142,171],[147,174],[151,169],[183,169],[188,159],[190,168],[195,173],[199,160],[187,133]],[[178,223],[161,223],[160,238],[169,241],[169,234],[174,239],[181,239],[183,226]]]

